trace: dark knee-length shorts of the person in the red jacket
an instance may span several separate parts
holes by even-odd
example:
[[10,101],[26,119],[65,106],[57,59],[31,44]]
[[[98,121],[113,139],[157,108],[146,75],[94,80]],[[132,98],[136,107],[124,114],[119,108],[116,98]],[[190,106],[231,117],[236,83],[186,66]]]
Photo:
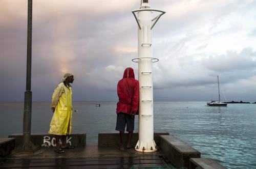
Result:
[[134,131],[134,119],[135,116],[128,115],[123,112],[119,112],[116,117],[116,130],[124,131],[126,125],[126,131]]

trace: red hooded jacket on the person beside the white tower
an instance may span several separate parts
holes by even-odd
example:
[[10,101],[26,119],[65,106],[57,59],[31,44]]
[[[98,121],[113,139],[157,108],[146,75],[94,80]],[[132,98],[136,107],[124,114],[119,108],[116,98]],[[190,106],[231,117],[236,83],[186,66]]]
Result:
[[135,111],[138,115],[139,81],[134,77],[133,68],[124,70],[123,78],[117,84],[117,95],[119,97],[117,113],[124,112],[131,115],[131,112]]

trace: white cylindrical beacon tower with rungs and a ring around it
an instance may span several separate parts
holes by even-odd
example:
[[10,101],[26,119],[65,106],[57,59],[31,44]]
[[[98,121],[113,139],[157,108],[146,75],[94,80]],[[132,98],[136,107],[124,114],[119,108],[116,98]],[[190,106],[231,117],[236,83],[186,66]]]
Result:
[[[157,149],[154,141],[152,63],[158,59],[152,54],[152,29],[165,12],[152,9],[148,0],[141,0],[140,9],[132,13],[138,23],[138,58],[132,61],[138,63],[140,83],[139,140],[135,150],[154,152]],[[153,17],[154,13],[158,15]]]

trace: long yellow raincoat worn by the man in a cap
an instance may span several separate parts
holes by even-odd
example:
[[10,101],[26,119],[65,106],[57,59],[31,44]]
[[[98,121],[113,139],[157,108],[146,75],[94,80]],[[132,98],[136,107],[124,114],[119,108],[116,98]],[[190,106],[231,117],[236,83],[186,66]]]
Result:
[[52,95],[51,109],[54,114],[50,123],[50,134],[66,135],[71,133],[72,124],[72,88],[59,83]]

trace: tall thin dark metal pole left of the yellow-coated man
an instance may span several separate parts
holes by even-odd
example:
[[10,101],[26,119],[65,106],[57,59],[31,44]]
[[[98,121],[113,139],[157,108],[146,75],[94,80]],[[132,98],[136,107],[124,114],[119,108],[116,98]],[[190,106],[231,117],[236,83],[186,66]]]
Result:
[[31,150],[31,48],[32,48],[32,0],[28,0],[28,38],[27,38],[27,81],[24,98],[24,116],[23,116],[23,144],[22,150]]

